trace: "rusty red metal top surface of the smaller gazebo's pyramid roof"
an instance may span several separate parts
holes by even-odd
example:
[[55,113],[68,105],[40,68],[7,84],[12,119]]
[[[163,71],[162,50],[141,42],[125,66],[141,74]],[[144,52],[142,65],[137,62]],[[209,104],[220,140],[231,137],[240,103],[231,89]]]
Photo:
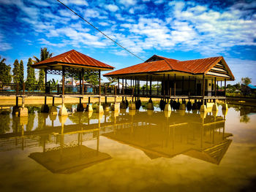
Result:
[[91,58],[83,53],[79,53],[76,50],[69,50],[66,53],[56,55],[52,58],[48,58],[45,61],[41,61],[33,66],[45,66],[47,64],[69,64],[70,66],[91,66],[93,68],[103,68],[103,69],[114,69],[113,66],[104,64],[101,61],[97,61],[94,58]]

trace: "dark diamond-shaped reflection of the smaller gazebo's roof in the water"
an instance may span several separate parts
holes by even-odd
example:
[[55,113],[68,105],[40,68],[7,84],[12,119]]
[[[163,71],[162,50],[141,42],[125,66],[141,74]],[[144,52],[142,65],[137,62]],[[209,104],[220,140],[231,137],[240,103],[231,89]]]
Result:
[[71,174],[99,162],[110,159],[107,153],[101,153],[84,145],[48,150],[45,153],[31,153],[30,158],[37,161],[53,173]]

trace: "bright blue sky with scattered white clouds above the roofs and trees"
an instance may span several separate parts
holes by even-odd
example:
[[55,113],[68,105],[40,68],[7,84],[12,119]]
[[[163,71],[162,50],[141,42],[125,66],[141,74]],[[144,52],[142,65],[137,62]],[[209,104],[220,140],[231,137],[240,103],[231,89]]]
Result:
[[[222,55],[231,84],[250,77],[256,85],[256,1],[61,1],[144,60]],[[41,47],[53,55],[74,49],[116,69],[142,62],[56,0],[0,0],[0,12],[1,58],[11,66],[22,59],[25,71]]]

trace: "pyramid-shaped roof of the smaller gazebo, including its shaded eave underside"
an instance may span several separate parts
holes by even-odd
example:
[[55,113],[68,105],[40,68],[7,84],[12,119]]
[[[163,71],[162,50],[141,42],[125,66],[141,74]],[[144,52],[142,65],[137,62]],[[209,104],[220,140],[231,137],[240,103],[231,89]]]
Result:
[[66,53],[56,55],[41,61],[37,64],[32,64],[34,68],[38,69],[56,69],[61,70],[62,66],[69,66],[72,68],[86,68],[91,70],[101,69],[102,71],[113,70],[114,67],[104,64],[94,58],[84,55],[76,50],[69,50]]

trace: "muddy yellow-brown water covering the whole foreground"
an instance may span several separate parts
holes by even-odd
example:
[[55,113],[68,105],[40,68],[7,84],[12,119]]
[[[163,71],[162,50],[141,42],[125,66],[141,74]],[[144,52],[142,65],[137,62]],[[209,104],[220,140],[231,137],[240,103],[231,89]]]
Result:
[[255,190],[255,108],[37,111],[1,112],[0,191]]

